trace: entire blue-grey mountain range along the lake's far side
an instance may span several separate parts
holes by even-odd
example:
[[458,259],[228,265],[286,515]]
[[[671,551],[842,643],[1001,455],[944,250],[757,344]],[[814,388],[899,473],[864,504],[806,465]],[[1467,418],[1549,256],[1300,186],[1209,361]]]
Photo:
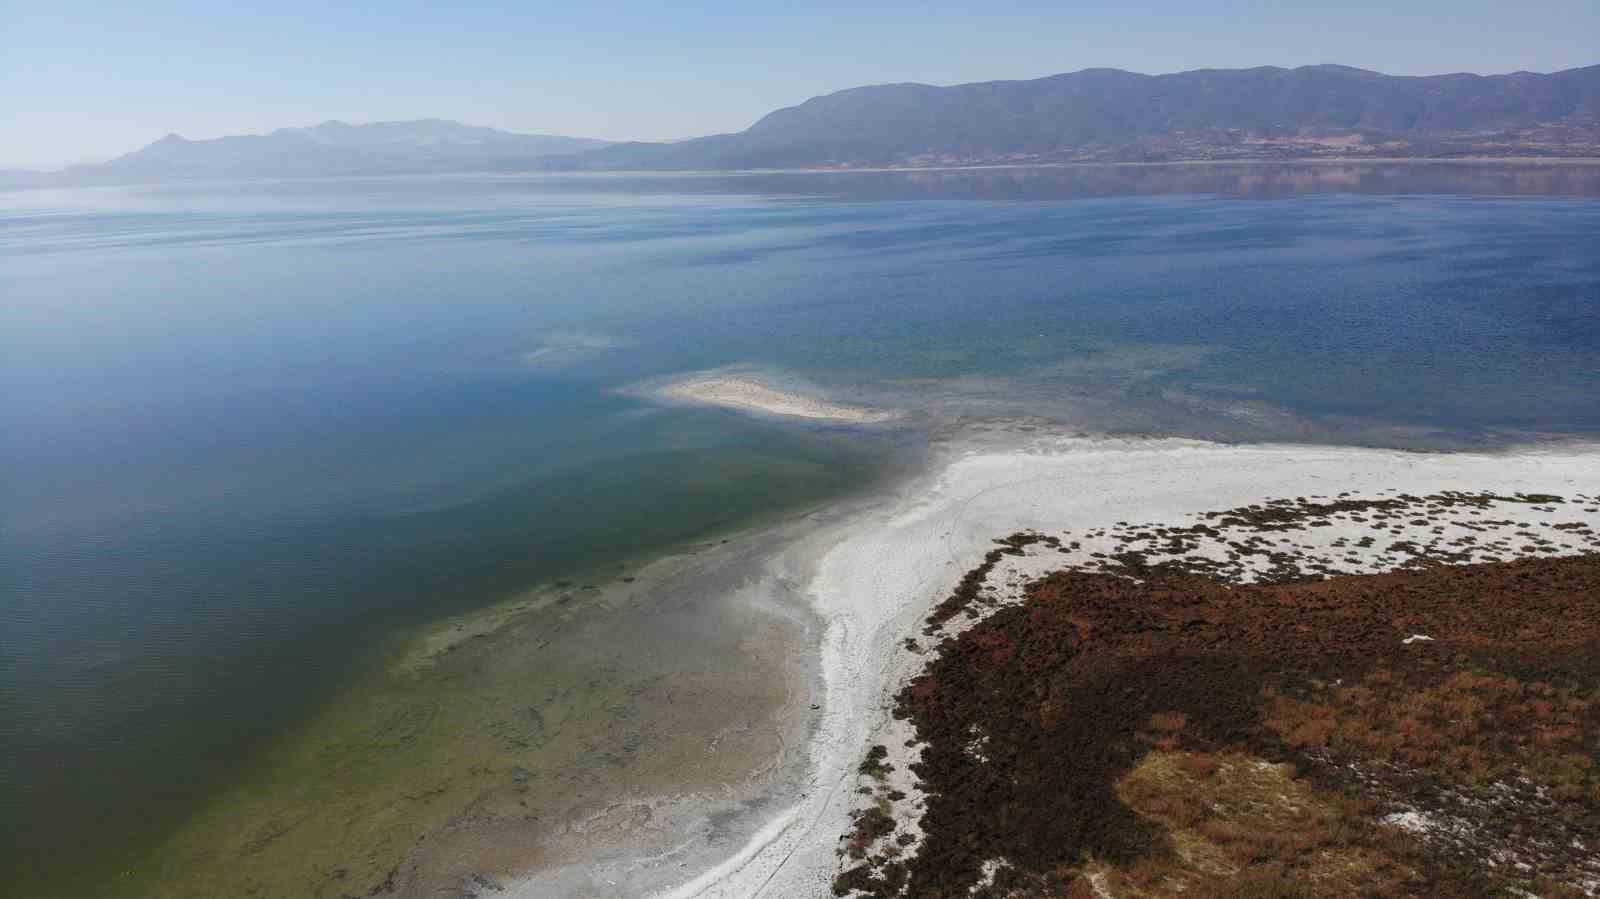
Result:
[[101,165],[0,182],[526,170],[859,168],[1317,157],[1600,157],[1600,66],[1398,77],[1347,66],[877,85],[734,134],[621,142],[443,120],[178,134]]

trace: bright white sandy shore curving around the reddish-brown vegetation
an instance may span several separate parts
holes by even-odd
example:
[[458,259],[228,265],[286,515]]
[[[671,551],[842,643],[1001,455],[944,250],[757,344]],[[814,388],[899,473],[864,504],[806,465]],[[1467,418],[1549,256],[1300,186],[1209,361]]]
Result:
[[[840,859],[840,837],[851,829],[858,790],[872,784],[858,773],[869,745],[883,744],[883,760],[896,773],[914,760],[904,723],[890,710],[899,688],[926,662],[907,638],[926,637],[928,613],[950,595],[962,577],[997,547],[995,539],[1021,531],[1088,534],[1069,549],[1094,552],[1126,549],[1112,531],[1133,523],[1192,526],[1205,512],[1238,509],[1275,497],[1338,497],[1357,494],[1429,496],[1446,491],[1502,496],[1594,496],[1600,493],[1600,448],[1554,446],[1498,454],[1418,454],[1322,446],[1224,446],[1187,440],[1042,438],[1016,450],[952,451],[925,478],[850,521],[792,547],[779,560],[789,571],[803,569],[802,592],[826,621],[822,638],[822,715],[810,744],[810,784],[782,814],[773,817],[742,851],[675,889],[686,897],[824,896],[832,878],[848,867]],[[1509,536],[1555,517],[1582,518],[1600,528],[1594,502],[1549,505],[1523,501],[1496,509],[1496,521],[1512,521]],[[1408,557],[1395,544],[1432,542],[1432,528],[1395,521],[1400,534],[1371,541],[1370,521],[1333,521],[1293,542],[1322,547],[1323,561],[1347,571],[1394,568]],[[1496,528],[1501,528],[1499,525]],[[1469,533],[1469,531],[1464,531]],[[1526,545],[1549,547],[1546,555],[1592,552],[1570,529],[1536,533]],[[1498,534],[1494,541],[1509,539]],[[1454,536],[1454,534],[1453,534]],[[1106,537],[1106,545],[1094,541]],[[1485,539],[1485,542],[1490,542]],[[1523,544],[1514,549],[1522,550]],[[1285,547],[1290,549],[1290,547]],[[1296,550],[1299,552],[1299,550]],[[1475,550],[1477,553],[1478,550]],[[1488,553],[1488,550],[1485,550]],[[1389,561],[1384,561],[1389,555]],[[1219,565],[1229,561],[1219,555]],[[1005,555],[989,582],[1018,585],[1069,565],[1061,547],[1035,544],[1021,555]],[[1274,560],[1246,557],[1238,576],[1253,565],[1270,571]],[[997,597],[995,601],[1003,601]],[[958,629],[960,616],[946,627]],[[1395,641],[1408,637],[1395,633]],[[978,747],[981,752],[981,747]],[[907,792],[906,784],[896,789]],[[909,795],[904,803],[915,805]]]

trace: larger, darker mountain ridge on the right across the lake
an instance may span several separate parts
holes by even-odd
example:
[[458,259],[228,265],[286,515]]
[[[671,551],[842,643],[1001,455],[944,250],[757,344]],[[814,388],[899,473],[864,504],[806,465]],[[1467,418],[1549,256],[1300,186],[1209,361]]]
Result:
[[1318,155],[1600,155],[1600,66],[1394,77],[1347,66],[878,85],[738,134],[614,144],[557,168],[688,170]]

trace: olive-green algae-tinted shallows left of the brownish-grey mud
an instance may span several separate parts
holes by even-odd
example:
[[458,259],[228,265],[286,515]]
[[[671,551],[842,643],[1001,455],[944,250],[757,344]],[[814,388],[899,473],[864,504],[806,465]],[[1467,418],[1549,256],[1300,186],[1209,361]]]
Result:
[[[501,640],[426,673],[376,675],[254,760],[128,886],[174,897],[386,893],[427,833],[486,797],[526,790],[531,769],[576,761],[552,739],[563,726],[606,721],[627,702],[618,672],[571,665]],[[514,672],[526,680],[504,677]]]

